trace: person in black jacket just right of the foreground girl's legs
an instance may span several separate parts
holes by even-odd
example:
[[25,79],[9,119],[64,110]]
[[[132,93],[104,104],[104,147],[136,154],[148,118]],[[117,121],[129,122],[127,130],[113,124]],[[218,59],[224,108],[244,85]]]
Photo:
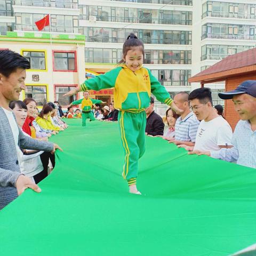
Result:
[[146,135],[163,135],[164,122],[161,116],[157,115],[154,111],[154,99],[150,97],[149,107],[145,109],[147,116]]

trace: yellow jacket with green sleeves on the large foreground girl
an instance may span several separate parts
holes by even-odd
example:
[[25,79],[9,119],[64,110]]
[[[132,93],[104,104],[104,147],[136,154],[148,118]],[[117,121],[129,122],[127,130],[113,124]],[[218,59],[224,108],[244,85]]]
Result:
[[114,87],[115,108],[139,113],[149,106],[150,95],[170,105],[172,99],[165,87],[147,68],[132,71],[126,65],[114,68],[105,74],[86,80],[80,85],[83,91],[99,91]]

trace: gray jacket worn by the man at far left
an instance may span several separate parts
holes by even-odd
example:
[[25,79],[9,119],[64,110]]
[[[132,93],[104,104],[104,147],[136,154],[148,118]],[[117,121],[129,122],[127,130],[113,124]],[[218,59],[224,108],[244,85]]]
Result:
[[[23,149],[53,150],[53,143],[38,141],[25,136],[19,129],[19,147]],[[0,209],[17,196],[15,183],[20,175],[20,166],[12,129],[7,116],[0,107]]]

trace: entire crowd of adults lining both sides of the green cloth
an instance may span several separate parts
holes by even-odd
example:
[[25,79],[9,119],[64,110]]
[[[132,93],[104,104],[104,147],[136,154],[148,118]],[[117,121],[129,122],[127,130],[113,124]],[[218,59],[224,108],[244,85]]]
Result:
[[[62,150],[49,142],[49,137],[65,131],[66,118],[81,118],[81,110],[68,107],[63,113],[57,101],[38,110],[34,99],[19,100],[25,90],[29,61],[20,54],[0,51],[0,209],[13,201],[26,188],[40,192],[36,185],[55,166],[54,153]],[[256,168],[256,81],[245,81],[234,91],[219,93],[221,99],[232,99],[241,120],[233,133],[223,117],[222,106],[213,107],[211,90],[180,92],[173,101],[182,110],[177,115],[171,108],[164,118],[154,111],[154,99],[145,110],[145,133],[162,137],[169,143],[188,150],[188,154],[208,155]],[[102,102],[105,103],[105,102]],[[117,121],[114,102],[92,110],[101,121]]]

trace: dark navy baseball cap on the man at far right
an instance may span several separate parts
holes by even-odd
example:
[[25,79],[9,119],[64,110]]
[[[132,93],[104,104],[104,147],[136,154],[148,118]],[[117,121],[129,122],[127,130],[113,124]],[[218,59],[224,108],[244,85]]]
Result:
[[219,97],[223,100],[233,99],[237,94],[249,94],[256,98],[256,80],[246,80],[242,84],[239,84],[233,91],[219,93]]

